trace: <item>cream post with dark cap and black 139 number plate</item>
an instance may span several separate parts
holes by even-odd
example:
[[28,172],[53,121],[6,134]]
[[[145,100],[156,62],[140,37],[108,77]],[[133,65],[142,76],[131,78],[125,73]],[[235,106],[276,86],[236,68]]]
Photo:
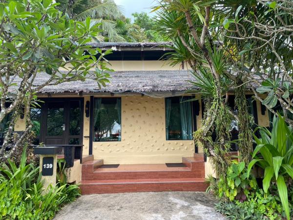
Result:
[[[34,154],[40,155],[40,173],[42,174],[43,188],[46,191],[49,185],[56,185],[57,154],[62,147],[35,147]],[[45,192],[44,191],[44,192]]]

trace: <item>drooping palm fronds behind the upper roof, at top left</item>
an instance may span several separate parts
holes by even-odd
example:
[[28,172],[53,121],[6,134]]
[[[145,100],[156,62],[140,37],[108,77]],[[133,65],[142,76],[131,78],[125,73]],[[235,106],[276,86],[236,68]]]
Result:
[[[109,41],[125,41],[116,29],[116,20],[122,17],[122,7],[114,0],[57,0],[59,10],[69,18],[84,21],[90,17],[93,22],[101,23],[102,35]],[[104,40],[97,36],[99,40]]]

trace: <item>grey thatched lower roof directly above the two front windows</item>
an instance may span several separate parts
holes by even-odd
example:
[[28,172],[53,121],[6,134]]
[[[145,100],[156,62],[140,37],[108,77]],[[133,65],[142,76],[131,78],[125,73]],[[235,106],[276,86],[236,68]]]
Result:
[[[159,71],[116,71],[110,72],[110,83],[106,87],[98,88],[97,82],[92,79],[73,81],[59,84],[57,86],[46,86],[40,93],[182,93],[191,88],[188,80],[194,80],[187,70],[159,70]],[[38,86],[46,82],[50,75],[40,73],[34,81]],[[15,79],[16,83],[20,79]],[[11,91],[13,92],[13,91]]]

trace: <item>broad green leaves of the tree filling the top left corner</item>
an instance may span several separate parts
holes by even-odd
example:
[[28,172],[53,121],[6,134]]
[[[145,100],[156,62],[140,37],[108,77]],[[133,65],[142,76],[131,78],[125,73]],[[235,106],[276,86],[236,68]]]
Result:
[[[85,44],[100,32],[99,25],[93,24],[89,18],[85,22],[75,22],[61,16],[52,0],[42,3],[39,0],[9,2],[1,3],[3,10],[0,10],[5,31],[2,36],[9,33],[11,37],[9,43],[5,43],[6,39],[0,39],[3,43],[1,62],[15,63],[15,66],[21,63],[24,69],[33,65],[38,71],[48,74],[58,71],[60,66],[71,64],[75,70],[84,71],[79,75],[80,79],[86,76],[85,73],[96,61],[89,58],[99,54],[99,51]],[[31,42],[35,44],[31,45]],[[84,51],[89,54],[85,55]],[[70,59],[64,61],[64,57],[69,55]],[[23,63],[23,60],[26,62]],[[60,76],[61,79],[66,77],[64,74]]]

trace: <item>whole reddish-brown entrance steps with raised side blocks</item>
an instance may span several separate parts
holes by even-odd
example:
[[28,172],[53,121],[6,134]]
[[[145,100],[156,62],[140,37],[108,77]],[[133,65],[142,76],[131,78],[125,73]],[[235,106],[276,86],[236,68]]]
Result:
[[121,164],[103,168],[103,159],[83,158],[83,195],[127,192],[205,191],[203,154],[183,157],[179,167],[167,164]]

